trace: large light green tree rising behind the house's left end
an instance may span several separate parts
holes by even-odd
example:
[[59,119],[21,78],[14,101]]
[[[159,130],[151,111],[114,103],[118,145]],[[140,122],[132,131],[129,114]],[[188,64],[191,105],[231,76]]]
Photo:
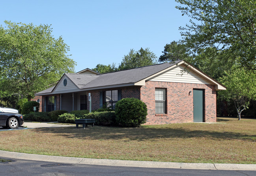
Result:
[[36,92],[52,86],[65,72],[74,72],[69,47],[54,38],[48,25],[34,26],[5,21],[0,26],[0,75],[5,87],[30,100]]

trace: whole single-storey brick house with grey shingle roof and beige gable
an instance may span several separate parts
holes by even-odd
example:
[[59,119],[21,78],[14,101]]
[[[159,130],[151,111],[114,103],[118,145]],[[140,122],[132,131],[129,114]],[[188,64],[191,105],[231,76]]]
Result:
[[216,90],[226,88],[185,61],[97,74],[65,73],[56,86],[35,94],[41,111],[115,107],[123,98],[146,103],[146,124],[216,122]]

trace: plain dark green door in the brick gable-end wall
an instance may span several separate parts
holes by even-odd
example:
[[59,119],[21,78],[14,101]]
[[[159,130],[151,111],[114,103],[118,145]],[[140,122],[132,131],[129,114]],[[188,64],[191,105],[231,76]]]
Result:
[[193,90],[194,122],[203,122],[204,117],[204,91]]

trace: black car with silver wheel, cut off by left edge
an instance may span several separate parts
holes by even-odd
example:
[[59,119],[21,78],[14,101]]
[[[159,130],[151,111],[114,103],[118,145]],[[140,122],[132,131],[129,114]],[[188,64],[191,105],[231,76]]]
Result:
[[23,125],[24,119],[21,114],[13,112],[3,112],[0,109],[0,127],[15,129]]

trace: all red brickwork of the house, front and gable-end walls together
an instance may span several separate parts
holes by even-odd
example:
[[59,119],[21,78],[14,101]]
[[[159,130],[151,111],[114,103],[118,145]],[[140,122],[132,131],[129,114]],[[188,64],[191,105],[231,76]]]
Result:
[[[155,114],[155,88],[166,89],[166,114]],[[214,85],[146,81],[145,86],[129,86],[87,91],[87,97],[88,93],[91,93],[92,110],[96,110],[99,108],[101,91],[121,89],[122,99],[134,97],[146,103],[148,108],[146,125],[186,123],[193,122],[193,89],[195,88],[204,90],[204,121],[216,122],[216,90]],[[189,91],[192,92],[189,93]],[[35,97],[34,99],[37,100],[38,97]],[[44,101],[45,96],[42,96],[40,110],[43,111],[45,105]],[[87,107],[87,109],[90,107],[89,101],[87,101]],[[56,94],[56,110],[59,109],[60,94]]]

